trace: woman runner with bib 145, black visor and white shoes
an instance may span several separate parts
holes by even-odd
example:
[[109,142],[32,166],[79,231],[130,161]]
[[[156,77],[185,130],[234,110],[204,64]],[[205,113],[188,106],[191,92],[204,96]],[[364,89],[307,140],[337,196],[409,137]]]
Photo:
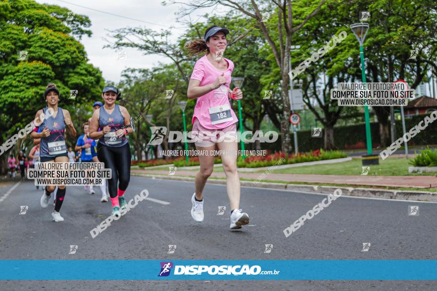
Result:
[[[37,127],[34,128],[30,136],[32,138],[41,138],[40,142],[40,161],[41,163],[68,163],[67,145],[65,143],[65,130],[70,137],[76,137],[73,121],[68,110],[58,106],[59,91],[56,85],[49,83],[44,92],[44,99],[47,107],[38,110],[35,116]],[[43,117],[44,116],[44,117]],[[41,132],[38,132],[41,127]],[[46,208],[49,198],[55,190],[56,185],[47,185],[45,192],[41,197],[41,207]],[[59,211],[61,210],[66,193],[65,185],[58,185],[58,192],[55,200],[55,210],[52,213],[55,222],[64,221]]]

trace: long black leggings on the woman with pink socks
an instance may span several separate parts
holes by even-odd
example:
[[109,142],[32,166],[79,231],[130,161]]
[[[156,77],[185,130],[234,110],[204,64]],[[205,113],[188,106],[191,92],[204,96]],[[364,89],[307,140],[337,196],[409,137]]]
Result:
[[131,149],[129,143],[121,147],[109,147],[98,143],[97,157],[111,169],[112,177],[108,180],[109,196],[117,197],[117,181],[120,190],[126,190],[131,179]]

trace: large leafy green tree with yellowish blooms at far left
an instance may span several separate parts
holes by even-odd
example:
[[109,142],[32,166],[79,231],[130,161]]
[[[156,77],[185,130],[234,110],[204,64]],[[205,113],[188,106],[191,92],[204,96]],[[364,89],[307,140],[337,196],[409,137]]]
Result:
[[[0,144],[45,107],[49,82],[60,91],[60,106],[71,112],[100,95],[101,72],[88,62],[78,41],[91,35],[89,26],[88,17],[67,8],[32,0],[0,1],[0,108],[5,121],[0,123]],[[70,99],[70,90],[78,91],[75,99]]]

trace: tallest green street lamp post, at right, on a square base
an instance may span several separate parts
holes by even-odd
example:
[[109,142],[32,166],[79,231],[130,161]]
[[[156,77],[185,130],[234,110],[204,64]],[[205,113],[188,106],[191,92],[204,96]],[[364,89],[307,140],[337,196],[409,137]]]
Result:
[[[364,48],[363,43],[365,39],[365,35],[369,29],[368,23],[355,23],[351,25],[352,32],[357,37],[358,42],[360,43],[360,57],[361,57],[361,78],[363,83],[365,80],[365,66],[364,66]],[[374,159],[374,155],[372,155],[372,136],[370,132],[370,118],[368,112],[368,106],[366,100],[364,101],[366,105],[364,105],[364,118],[365,118],[365,140],[367,144],[367,156],[363,157],[363,165],[374,165],[378,164],[378,158],[376,155],[376,159]],[[376,160],[376,161],[375,161]]]

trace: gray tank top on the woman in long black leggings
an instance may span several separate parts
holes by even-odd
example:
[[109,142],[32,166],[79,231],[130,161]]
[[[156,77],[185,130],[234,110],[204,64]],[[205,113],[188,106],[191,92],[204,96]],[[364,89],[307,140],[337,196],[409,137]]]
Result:
[[99,108],[99,127],[111,127],[111,132],[99,139],[99,144],[109,147],[121,147],[128,143],[126,136],[115,137],[114,132],[125,126],[125,118],[121,114],[120,107],[116,104],[111,114],[108,114],[102,106]]

